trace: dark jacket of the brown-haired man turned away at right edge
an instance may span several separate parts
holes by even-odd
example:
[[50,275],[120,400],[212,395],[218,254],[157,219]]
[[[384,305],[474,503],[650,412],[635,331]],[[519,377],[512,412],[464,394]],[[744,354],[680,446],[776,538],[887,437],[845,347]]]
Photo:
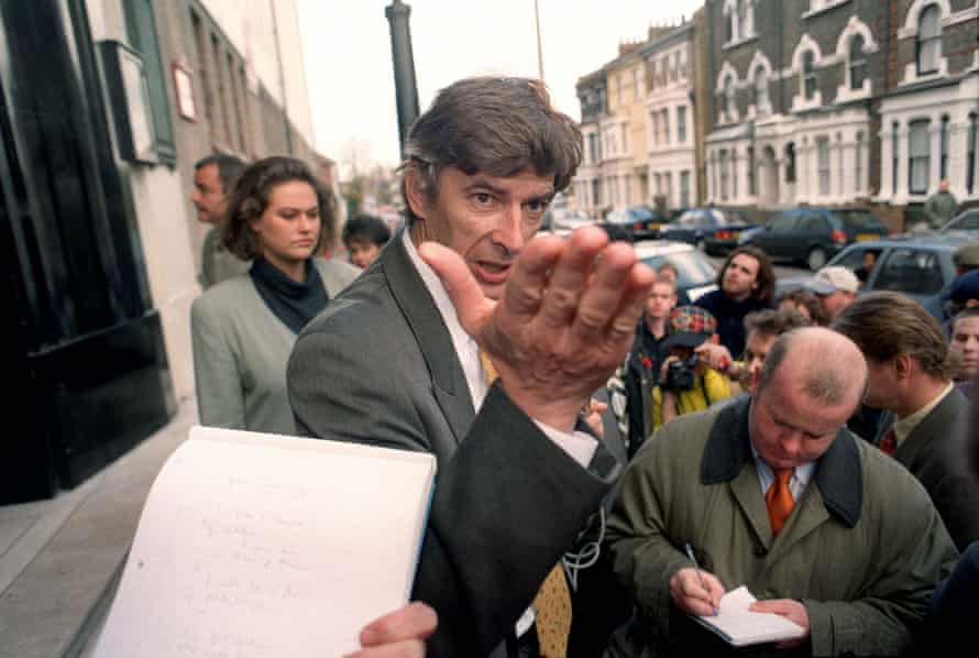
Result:
[[[880,445],[895,417],[881,417],[875,443]],[[927,490],[959,551],[979,539],[979,486],[966,467],[969,401],[953,388],[901,442],[894,459]]]

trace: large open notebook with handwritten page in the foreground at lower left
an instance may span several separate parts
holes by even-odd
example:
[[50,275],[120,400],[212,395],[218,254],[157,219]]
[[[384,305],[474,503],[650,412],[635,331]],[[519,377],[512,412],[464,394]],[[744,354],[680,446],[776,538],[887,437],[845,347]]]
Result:
[[403,606],[435,457],[195,427],[143,508],[96,658],[342,656]]

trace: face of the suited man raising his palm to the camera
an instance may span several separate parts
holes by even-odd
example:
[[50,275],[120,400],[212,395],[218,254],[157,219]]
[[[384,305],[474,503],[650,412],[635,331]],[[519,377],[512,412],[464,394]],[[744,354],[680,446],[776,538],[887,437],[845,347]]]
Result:
[[470,176],[446,167],[439,174],[435,204],[429,205],[420,191],[409,193],[409,202],[420,218],[417,234],[455,251],[483,293],[498,299],[514,262],[540,228],[553,196],[552,176],[530,171],[505,178],[481,173]]

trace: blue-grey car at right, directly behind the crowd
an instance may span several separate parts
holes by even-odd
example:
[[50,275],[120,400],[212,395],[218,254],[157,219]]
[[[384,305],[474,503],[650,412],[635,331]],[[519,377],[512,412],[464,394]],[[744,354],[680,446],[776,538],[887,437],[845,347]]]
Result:
[[[914,297],[938,321],[945,319],[943,293],[955,278],[952,254],[970,240],[965,233],[931,233],[901,235],[884,240],[857,242],[844,249],[829,265],[843,265],[858,272],[864,254],[875,252],[877,261],[866,273],[867,281],[858,295],[876,290],[894,290]],[[782,294],[802,285],[807,277],[779,279],[776,293]]]

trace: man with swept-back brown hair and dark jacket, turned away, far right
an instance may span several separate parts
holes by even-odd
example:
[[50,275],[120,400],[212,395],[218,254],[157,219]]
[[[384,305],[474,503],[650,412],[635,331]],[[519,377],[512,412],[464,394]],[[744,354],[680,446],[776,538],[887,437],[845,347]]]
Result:
[[963,464],[969,403],[938,322],[901,293],[871,293],[831,325],[870,368],[866,402],[884,409],[873,443],[917,478],[959,550],[979,539],[979,487]]

